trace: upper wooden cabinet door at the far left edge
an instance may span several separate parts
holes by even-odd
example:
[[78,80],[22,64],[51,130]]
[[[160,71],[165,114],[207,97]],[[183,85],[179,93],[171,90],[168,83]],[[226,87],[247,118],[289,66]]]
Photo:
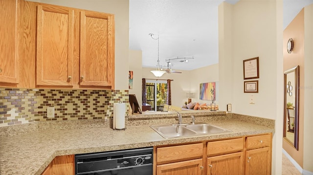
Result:
[[0,82],[18,83],[18,0],[0,0]]

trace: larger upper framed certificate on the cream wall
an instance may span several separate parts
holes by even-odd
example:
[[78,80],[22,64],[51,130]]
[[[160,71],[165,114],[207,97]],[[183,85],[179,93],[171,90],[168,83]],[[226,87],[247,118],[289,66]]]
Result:
[[244,60],[244,79],[259,78],[259,57]]

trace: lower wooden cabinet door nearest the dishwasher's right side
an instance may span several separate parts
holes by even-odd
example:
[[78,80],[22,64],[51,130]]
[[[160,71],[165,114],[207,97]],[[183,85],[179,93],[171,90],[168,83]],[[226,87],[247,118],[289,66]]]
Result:
[[156,165],[156,175],[203,175],[202,159]]

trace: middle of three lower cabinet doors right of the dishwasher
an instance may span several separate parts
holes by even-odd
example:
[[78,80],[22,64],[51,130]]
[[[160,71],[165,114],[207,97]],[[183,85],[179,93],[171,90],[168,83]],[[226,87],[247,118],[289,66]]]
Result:
[[207,175],[243,175],[243,152],[207,158]]

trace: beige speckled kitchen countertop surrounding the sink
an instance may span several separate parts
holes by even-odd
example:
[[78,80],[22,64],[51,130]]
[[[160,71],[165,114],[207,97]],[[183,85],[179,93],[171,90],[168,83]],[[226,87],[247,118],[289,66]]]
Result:
[[[165,139],[150,125],[176,123],[177,115],[129,115],[127,129],[114,131],[111,120],[43,121],[0,128],[0,174],[40,175],[56,156],[124,150],[263,135],[274,132],[274,120],[219,111],[195,115],[196,122],[207,122],[231,133]],[[141,116],[141,118],[140,118]],[[149,116],[149,115],[148,115]],[[163,116],[163,117],[162,117]],[[165,117],[164,117],[165,116]],[[190,122],[182,113],[183,123]]]

